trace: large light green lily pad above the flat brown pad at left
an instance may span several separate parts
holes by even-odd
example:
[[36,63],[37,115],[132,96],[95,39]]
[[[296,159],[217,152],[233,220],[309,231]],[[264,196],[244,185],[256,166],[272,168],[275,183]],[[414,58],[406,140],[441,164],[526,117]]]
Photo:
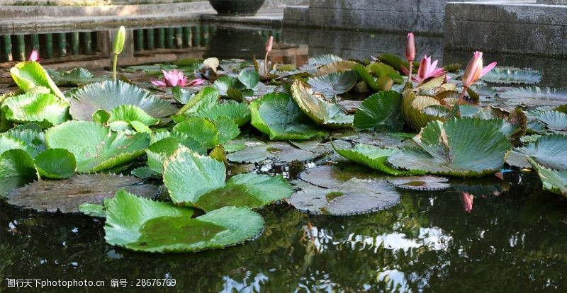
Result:
[[146,133],[132,136],[112,132],[96,122],[68,121],[50,128],[45,133],[52,149],[67,149],[77,159],[77,172],[103,171],[144,154],[150,144]]

